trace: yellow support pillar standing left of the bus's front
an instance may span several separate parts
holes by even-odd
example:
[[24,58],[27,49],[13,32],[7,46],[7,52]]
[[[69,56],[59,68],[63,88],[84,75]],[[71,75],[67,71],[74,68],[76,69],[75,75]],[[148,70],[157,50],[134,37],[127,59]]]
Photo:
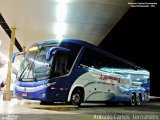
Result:
[[6,101],[11,100],[10,84],[11,84],[11,72],[12,72],[12,54],[13,54],[13,48],[14,48],[14,43],[15,43],[15,31],[16,31],[16,28],[12,28],[10,48],[9,48],[9,57],[8,57],[9,59],[8,59],[6,89],[3,95],[3,100],[6,100]]

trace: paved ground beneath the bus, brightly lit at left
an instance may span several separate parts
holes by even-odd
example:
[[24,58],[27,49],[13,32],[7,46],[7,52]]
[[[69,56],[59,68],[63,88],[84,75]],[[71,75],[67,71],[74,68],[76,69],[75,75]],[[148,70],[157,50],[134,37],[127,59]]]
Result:
[[[62,109],[57,109],[60,107]],[[68,108],[69,109],[68,109]],[[56,109],[55,109],[56,108]],[[65,109],[63,109],[65,108]],[[66,109],[67,108],[67,109]],[[65,104],[39,105],[37,101],[0,100],[0,120],[160,120],[160,102],[140,107],[105,104],[82,104],[80,108]]]

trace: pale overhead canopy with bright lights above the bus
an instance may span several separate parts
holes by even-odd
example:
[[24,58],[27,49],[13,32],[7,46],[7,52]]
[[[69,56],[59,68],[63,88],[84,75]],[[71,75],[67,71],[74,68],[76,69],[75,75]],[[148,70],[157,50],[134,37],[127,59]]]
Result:
[[[0,13],[22,46],[77,38],[98,45],[133,0],[0,0]],[[1,34],[1,33],[0,33]]]

